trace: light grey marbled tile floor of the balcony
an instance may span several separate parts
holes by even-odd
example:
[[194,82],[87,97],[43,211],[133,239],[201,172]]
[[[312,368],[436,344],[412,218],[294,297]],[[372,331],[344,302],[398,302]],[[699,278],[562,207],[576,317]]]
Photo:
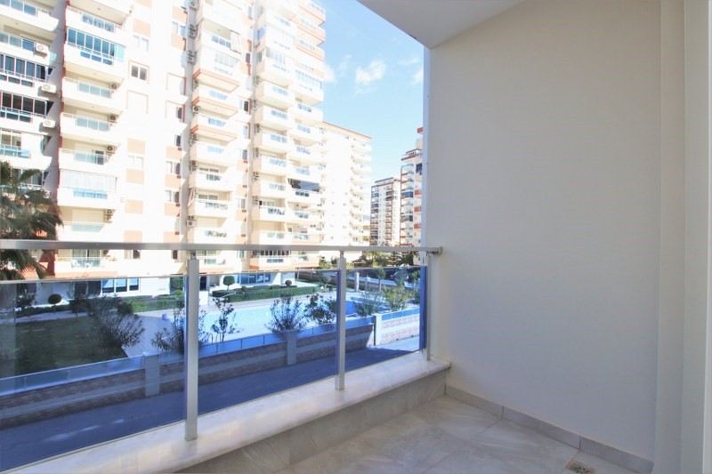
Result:
[[443,396],[280,473],[570,473],[571,460],[596,474],[632,472],[536,431]]

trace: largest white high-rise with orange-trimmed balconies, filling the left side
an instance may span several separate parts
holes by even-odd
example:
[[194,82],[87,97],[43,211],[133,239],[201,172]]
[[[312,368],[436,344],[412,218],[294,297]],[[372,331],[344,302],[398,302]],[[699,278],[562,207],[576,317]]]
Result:
[[[321,243],[325,19],[311,0],[0,3],[0,155],[45,171],[36,184],[61,206],[62,240]],[[368,145],[353,150],[366,165]],[[166,275],[184,258],[68,250],[54,269]],[[318,262],[198,259],[207,274],[264,270],[267,280]]]

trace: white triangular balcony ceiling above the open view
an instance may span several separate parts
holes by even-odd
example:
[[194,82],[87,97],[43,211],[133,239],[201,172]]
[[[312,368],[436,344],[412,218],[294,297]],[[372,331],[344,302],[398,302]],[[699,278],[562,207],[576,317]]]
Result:
[[522,0],[359,0],[360,4],[433,48]]

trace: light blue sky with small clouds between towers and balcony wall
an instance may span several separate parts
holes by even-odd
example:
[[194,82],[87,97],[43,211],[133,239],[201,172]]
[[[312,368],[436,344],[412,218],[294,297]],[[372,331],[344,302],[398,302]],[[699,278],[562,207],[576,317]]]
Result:
[[423,46],[356,0],[327,11],[324,120],[371,137],[371,180],[401,173],[423,125]]

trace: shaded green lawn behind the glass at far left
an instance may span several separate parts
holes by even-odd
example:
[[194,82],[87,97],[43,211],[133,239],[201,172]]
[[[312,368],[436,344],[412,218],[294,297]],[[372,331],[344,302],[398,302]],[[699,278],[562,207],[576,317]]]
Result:
[[15,327],[18,375],[126,357],[121,348],[109,353],[100,350],[89,317],[21,323]]

